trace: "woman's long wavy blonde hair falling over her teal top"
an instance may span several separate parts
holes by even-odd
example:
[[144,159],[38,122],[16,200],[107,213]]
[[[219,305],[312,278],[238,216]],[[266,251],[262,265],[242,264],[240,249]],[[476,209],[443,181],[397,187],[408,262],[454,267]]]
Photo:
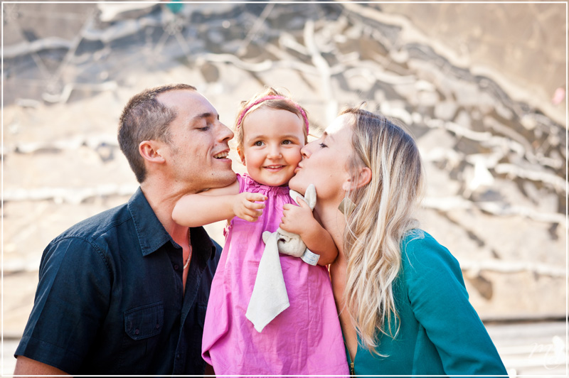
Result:
[[399,330],[393,282],[401,239],[418,225],[413,213],[422,195],[422,163],[415,141],[395,121],[359,108],[341,114],[353,121],[352,178],[363,166],[371,170],[370,183],[346,193],[354,206],[346,214],[344,298],[363,345],[376,352],[378,332],[395,338]]

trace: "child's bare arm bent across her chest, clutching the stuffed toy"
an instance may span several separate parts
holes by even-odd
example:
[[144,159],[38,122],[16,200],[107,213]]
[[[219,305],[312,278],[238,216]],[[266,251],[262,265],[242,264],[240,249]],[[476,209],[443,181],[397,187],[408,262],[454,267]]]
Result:
[[306,202],[300,200],[300,206],[287,204],[283,206],[280,227],[287,232],[299,234],[307,248],[319,254],[319,265],[328,265],[336,260],[338,248],[324,227],[314,219],[312,210]]

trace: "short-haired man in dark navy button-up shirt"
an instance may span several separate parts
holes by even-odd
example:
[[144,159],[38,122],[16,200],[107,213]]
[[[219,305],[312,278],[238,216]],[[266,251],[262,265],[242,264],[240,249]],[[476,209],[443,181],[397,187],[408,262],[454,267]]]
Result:
[[190,85],[129,100],[118,138],[140,188],[45,249],[14,374],[204,373],[219,252],[202,227],[176,225],[171,213],[182,195],[235,180],[232,137]]

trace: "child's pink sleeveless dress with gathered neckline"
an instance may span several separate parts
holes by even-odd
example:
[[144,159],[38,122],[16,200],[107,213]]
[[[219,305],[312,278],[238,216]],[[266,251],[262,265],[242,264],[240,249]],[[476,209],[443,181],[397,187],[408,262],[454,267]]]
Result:
[[245,312],[265,243],[275,232],[282,206],[294,203],[288,187],[262,185],[237,175],[240,193],[267,196],[256,222],[234,217],[225,229],[225,247],[213,278],[202,355],[216,374],[349,375],[328,270],[280,254],[290,306],[258,333]]

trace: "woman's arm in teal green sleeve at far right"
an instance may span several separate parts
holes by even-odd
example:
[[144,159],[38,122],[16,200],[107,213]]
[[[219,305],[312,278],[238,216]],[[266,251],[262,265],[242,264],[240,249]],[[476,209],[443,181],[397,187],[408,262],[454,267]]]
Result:
[[507,374],[468,300],[460,266],[452,254],[425,232],[424,237],[403,242],[402,260],[413,313],[437,348],[445,373]]

